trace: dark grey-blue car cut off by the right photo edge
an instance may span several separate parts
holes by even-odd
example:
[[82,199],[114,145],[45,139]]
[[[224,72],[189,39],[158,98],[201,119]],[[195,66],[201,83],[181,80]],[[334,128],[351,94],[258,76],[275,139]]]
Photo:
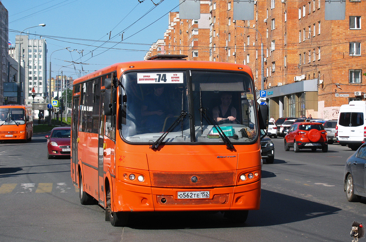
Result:
[[352,156],[348,157],[344,167],[343,184],[347,200],[358,202],[361,197],[366,197],[365,183],[366,143],[363,144]]

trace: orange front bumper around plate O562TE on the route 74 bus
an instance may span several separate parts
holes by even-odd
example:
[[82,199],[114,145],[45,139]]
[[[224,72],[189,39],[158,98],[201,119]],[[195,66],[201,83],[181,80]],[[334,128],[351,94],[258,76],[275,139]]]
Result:
[[[139,191],[139,192],[137,192]],[[209,199],[177,199],[179,191],[210,191]],[[261,182],[235,187],[173,189],[137,186],[116,180],[113,211],[226,211],[259,209]]]

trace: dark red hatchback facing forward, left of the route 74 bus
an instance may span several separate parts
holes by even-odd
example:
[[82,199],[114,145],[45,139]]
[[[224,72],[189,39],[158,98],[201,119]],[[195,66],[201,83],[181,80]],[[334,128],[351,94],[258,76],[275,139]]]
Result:
[[47,157],[69,156],[71,153],[71,127],[56,127],[47,138]]

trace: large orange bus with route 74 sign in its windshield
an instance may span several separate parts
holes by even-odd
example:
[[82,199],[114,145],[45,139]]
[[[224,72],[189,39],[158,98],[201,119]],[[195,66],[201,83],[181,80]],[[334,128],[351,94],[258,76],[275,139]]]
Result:
[[[159,55],[74,80],[71,177],[81,204],[113,226],[133,212],[259,209],[259,129],[253,74],[240,64]],[[266,106],[266,105],[259,105]]]

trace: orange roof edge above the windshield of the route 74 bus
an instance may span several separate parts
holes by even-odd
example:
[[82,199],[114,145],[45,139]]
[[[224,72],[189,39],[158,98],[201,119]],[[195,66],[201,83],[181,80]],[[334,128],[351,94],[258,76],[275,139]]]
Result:
[[187,61],[187,60],[142,60],[135,62],[122,62],[116,63],[108,67],[104,67],[101,70],[94,71],[83,77],[74,80],[73,85],[80,82],[89,80],[91,78],[99,77],[104,74],[117,71],[117,77],[126,70],[147,70],[147,69],[167,69],[167,68],[191,68],[191,69],[207,69],[207,70],[231,70],[231,71],[245,71],[251,78],[253,78],[253,73],[251,69],[242,64],[233,64],[227,62],[208,62],[208,61]]

